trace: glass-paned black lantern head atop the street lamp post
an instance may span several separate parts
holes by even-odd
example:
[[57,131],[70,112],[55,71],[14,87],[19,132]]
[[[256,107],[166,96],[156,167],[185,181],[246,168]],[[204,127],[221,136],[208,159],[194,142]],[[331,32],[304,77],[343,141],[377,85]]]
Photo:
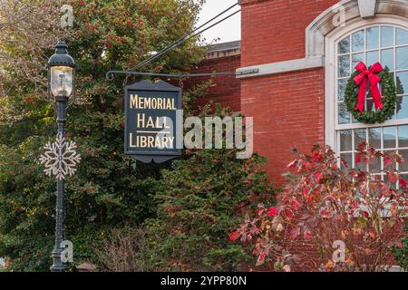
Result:
[[59,41],[55,45],[55,53],[47,63],[48,82],[54,97],[68,98],[73,94],[75,62],[67,48],[63,41]]

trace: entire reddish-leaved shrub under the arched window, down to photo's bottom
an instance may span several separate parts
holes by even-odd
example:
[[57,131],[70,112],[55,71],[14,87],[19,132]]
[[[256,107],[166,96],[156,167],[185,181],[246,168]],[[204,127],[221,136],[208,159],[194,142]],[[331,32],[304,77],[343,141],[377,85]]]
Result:
[[[365,143],[355,157],[360,169],[339,161],[330,148],[316,146],[311,154],[296,154],[277,206],[259,205],[257,216],[247,218],[233,233],[234,239],[255,243],[257,266],[275,270],[290,271],[296,265],[318,270],[320,263],[306,264],[313,256],[296,253],[302,243],[316,249],[318,262],[323,262],[320,270],[382,270],[390,247],[402,237],[407,189],[395,165],[403,158]],[[366,170],[381,159],[384,180]],[[344,260],[335,259],[336,240],[345,243]]]

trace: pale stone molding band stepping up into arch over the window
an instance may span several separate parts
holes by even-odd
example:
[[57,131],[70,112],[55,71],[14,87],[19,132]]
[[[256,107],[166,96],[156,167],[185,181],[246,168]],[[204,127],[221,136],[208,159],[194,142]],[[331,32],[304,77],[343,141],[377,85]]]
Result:
[[[344,27],[345,24],[374,16],[400,16],[407,19],[408,0],[343,0],[319,14],[306,27],[306,58],[242,67],[237,70],[237,78],[323,67],[325,65],[325,36]],[[258,69],[258,72],[246,73],[253,72],[254,69]]]

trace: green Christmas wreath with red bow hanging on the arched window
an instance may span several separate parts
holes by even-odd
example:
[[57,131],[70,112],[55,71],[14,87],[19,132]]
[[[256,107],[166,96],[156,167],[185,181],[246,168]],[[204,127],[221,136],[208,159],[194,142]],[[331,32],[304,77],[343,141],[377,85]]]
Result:
[[[367,69],[364,63],[355,66],[345,88],[345,105],[351,111],[356,121],[373,124],[387,121],[392,115],[397,102],[397,94],[393,75],[388,68],[383,68],[380,63],[375,63]],[[383,98],[378,88],[381,83]],[[374,101],[375,111],[364,111],[364,101],[367,86]]]

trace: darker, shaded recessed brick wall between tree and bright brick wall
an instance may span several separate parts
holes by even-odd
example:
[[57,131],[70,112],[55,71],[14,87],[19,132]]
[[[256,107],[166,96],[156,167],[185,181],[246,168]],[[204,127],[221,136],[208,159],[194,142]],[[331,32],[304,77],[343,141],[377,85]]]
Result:
[[[240,55],[226,56],[217,59],[203,60],[193,73],[235,73],[240,67]],[[209,78],[196,78],[193,83],[205,82]],[[209,88],[209,93],[199,100],[202,105],[206,102],[219,102],[233,111],[241,111],[241,84],[234,76],[218,76]]]

